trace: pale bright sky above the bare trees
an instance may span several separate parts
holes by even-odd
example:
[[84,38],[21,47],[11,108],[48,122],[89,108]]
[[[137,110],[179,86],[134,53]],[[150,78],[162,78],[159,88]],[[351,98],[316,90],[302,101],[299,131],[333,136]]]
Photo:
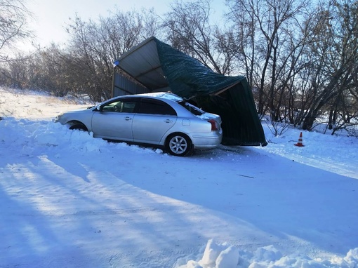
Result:
[[[30,27],[38,36],[36,43],[48,46],[51,41],[55,43],[65,42],[67,34],[64,26],[69,22],[69,17],[74,18],[75,13],[80,18],[97,19],[99,15],[105,16],[109,11],[117,8],[121,11],[140,11],[141,8],[154,8],[161,15],[169,11],[171,0],[27,0],[29,11],[34,14],[34,20]],[[213,11],[225,8],[224,0],[213,0]]]

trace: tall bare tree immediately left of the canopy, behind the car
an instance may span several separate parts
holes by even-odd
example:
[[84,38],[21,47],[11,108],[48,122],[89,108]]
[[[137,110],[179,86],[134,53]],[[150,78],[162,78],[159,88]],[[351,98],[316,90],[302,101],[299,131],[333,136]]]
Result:
[[95,101],[110,98],[114,60],[155,34],[157,27],[157,17],[146,11],[117,11],[107,18],[87,22],[76,16],[67,32],[81,88],[86,88]]

